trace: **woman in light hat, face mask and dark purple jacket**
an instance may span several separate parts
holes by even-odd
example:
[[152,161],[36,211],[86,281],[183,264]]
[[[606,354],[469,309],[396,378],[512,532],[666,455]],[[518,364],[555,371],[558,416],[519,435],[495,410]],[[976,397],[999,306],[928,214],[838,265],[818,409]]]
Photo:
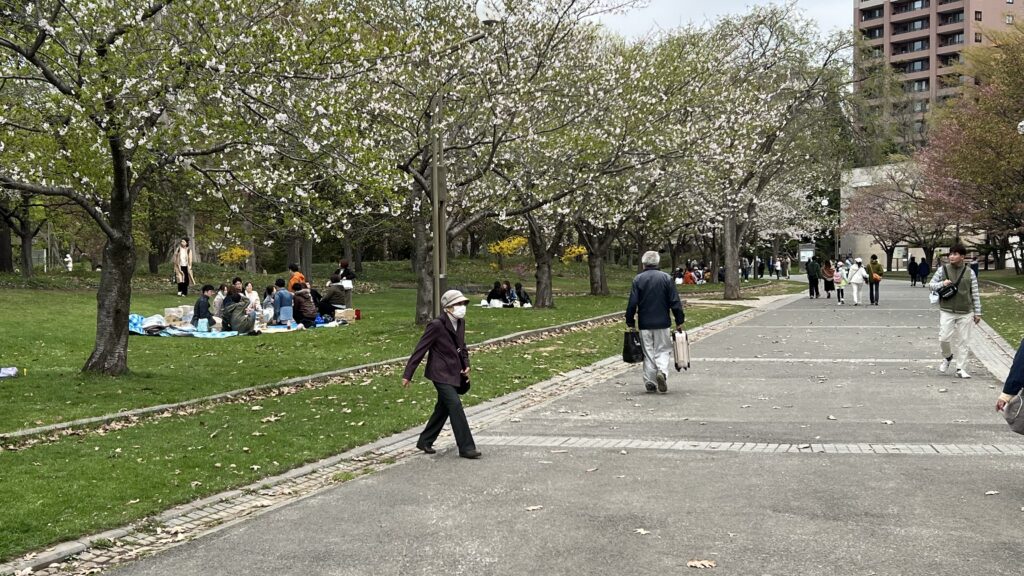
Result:
[[427,324],[401,375],[402,387],[409,387],[416,368],[430,353],[424,375],[434,383],[437,403],[416,443],[416,447],[427,454],[436,452],[434,441],[441,433],[444,421],[452,420],[452,434],[459,446],[459,455],[463,458],[480,457],[462,408],[462,400],[459,399],[459,388],[465,392],[469,386],[469,353],[466,351],[466,321],[463,320],[467,302],[469,300],[458,290],[449,290],[441,295],[440,303],[444,312]]

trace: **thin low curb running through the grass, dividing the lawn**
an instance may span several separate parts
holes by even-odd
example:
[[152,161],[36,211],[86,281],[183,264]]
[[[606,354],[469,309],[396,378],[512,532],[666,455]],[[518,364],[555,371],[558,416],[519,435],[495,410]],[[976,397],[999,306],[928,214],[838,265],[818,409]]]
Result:
[[[537,329],[534,329],[534,330],[525,330],[525,331],[522,331],[522,332],[515,332],[513,334],[506,334],[505,336],[499,336],[497,338],[490,338],[490,339],[484,340],[482,342],[477,342],[475,344],[469,344],[466,347],[468,347],[469,349],[475,349],[475,348],[478,348],[478,347],[481,347],[481,346],[493,345],[493,344],[500,344],[500,343],[503,343],[503,342],[513,341],[513,340],[516,340],[516,339],[519,339],[519,338],[525,338],[525,337],[529,337],[529,336],[537,336],[537,335],[546,334],[546,333],[549,333],[549,332],[553,333],[553,332],[558,332],[558,331],[561,331],[561,330],[568,330],[568,329],[571,329],[571,328],[575,328],[577,326],[583,326],[583,325],[586,325],[586,324],[592,324],[592,323],[596,323],[596,322],[604,322],[606,320],[611,320],[611,319],[614,319],[614,318],[618,318],[618,317],[622,317],[624,314],[625,314],[625,311],[624,312],[615,312],[615,313],[606,314],[606,315],[603,315],[603,316],[597,316],[597,317],[594,317],[594,318],[588,318],[588,319],[585,319],[585,320],[578,320],[575,322],[569,322],[569,323],[566,323],[566,324],[559,324],[557,326],[547,326],[547,327],[544,327],[544,328],[537,328]],[[382,368],[384,366],[389,366],[389,365],[392,365],[392,364],[398,364],[400,362],[406,362],[407,360],[409,360],[409,357],[408,356],[403,356],[403,357],[400,357],[400,358],[392,358],[392,359],[389,359],[389,360],[381,360],[381,361],[378,361],[378,362],[372,362],[370,364],[360,364],[358,366],[350,366],[348,368],[341,368],[341,369],[338,369],[338,370],[331,370],[331,371],[328,371],[328,372],[319,372],[319,373],[316,373],[316,374],[309,374],[307,376],[296,376],[294,378],[288,378],[288,379],[280,380],[280,381],[276,381],[276,382],[267,382],[265,384],[259,384],[259,385],[255,385],[255,386],[249,386],[249,387],[246,387],[246,388],[239,388],[239,389],[234,389],[234,390],[230,390],[230,392],[219,393],[219,394],[215,394],[215,395],[212,395],[212,396],[206,396],[206,397],[203,397],[203,398],[197,398],[197,399],[193,399],[193,400],[186,400],[184,402],[178,402],[178,403],[174,403],[174,404],[161,404],[161,405],[158,405],[158,406],[147,406],[145,408],[136,408],[134,410],[126,410],[124,412],[116,412],[116,413],[106,414],[106,415],[103,415],[103,416],[93,416],[93,417],[90,417],[90,418],[81,418],[79,420],[72,420],[70,422],[59,422],[59,423],[56,423],[56,424],[48,424],[48,425],[45,425],[45,426],[38,426],[38,427],[35,427],[35,428],[24,428],[24,429],[20,429],[20,430],[14,430],[14,431],[10,431],[10,433],[3,433],[3,434],[0,434],[0,442],[10,441],[10,440],[20,440],[20,439],[30,438],[30,437],[33,437],[33,436],[41,436],[41,435],[46,435],[46,434],[61,431],[61,430],[70,429],[70,428],[80,428],[80,427],[88,427],[88,426],[93,426],[93,425],[109,424],[111,422],[117,422],[117,421],[120,421],[120,420],[130,420],[132,418],[139,418],[139,417],[148,416],[148,415],[152,415],[152,414],[159,414],[161,412],[167,412],[167,411],[170,411],[170,410],[180,410],[182,408],[189,408],[189,407],[193,407],[193,406],[199,406],[199,405],[203,405],[203,404],[212,404],[212,403],[222,402],[222,401],[225,401],[225,400],[230,400],[230,399],[232,399],[234,397],[238,397],[238,396],[244,396],[244,395],[251,394],[251,393],[254,393],[254,392],[262,392],[262,390],[265,390],[265,389],[276,388],[276,387],[281,387],[281,386],[290,386],[290,385],[297,385],[297,384],[305,384],[305,383],[308,383],[308,382],[311,382],[311,381],[314,381],[314,380],[322,380],[322,379],[327,379],[327,378],[335,378],[335,377],[338,377],[338,376],[344,376],[344,375],[348,375],[348,374],[358,374],[360,372],[367,372],[367,371],[370,371],[370,370],[376,370],[377,368]]]

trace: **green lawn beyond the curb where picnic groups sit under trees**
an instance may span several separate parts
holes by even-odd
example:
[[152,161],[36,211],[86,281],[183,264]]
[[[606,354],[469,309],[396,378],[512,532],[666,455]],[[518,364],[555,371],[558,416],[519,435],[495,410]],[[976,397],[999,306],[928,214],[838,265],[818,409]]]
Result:
[[[324,274],[330,273],[330,264],[318,265],[317,270],[321,268]],[[472,280],[479,277],[509,278],[514,283],[521,279],[513,271],[523,268],[513,265],[497,272],[485,261],[454,260],[452,284],[474,286]],[[228,280],[227,276],[234,274],[217,266],[205,270],[208,276],[213,274],[211,271],[219,271]],[[95,294],[71,287],[81,286],[93,276],[40,275],[35,289],[4,290],[4,300],[10,302],[6,307],[22,314],[0,317],[0,365],[16,366],[25,375],[0,382],[0,433],[182,402],[398,358],[412,352],[421,334],[421,328],[413,323],[416,292],[400,288],[413,285],[408,262],[368,262],[360,289],[373,292],[354,295],[353,305],[360,308],[364,320],[348,326],[224,340],[132,336],[130,374],[119,378],[84,375],[80,369],[92,349],[95,333]],[[466,339],[469,343],[479,342],[623,311],[632,278],[633,271],[612,268],[609,285],[614,295],[564,295],[587,292],[587,266],[559,262],[554,280],[560,295],[556,295],[555,308],[471,308]],[[52,289],[61,282],[71,287]],[[135,282],[133,313],[150,316],[162,314],[165,307],[195,302],[194,298],[168,293],[173,287],[162,277],[141,275]],[[257,284],[261,282],[257,280]],[[754,281],[744,284],[743,289],[753,294],[796,289],[787,284]],[[526,286],[532,288],[531,284]],[[682,288],[684,298],[715,297],[722,290],[720,285]],[[32,321],[26,322],[26,318]]]

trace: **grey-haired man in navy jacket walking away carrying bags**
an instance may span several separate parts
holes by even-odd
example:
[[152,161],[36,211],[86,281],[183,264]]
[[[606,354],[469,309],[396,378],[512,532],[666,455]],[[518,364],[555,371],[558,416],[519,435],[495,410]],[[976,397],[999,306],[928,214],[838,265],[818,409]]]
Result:
[[643,383],[647,392],[669,392],[669,365],[672,364],[672,318],[676,329],[683,329],[685,316],[672,277],[657,270],[662,257],[657,252],[644,252],[640,261],[643,272],[633,279],[630,301],[626,306],[626,325],[640,326],[643,344]]

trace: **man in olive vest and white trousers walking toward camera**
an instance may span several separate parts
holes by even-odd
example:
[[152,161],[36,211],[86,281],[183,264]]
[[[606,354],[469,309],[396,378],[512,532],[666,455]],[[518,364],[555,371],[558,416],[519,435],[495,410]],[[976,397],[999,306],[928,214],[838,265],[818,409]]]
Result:
[[975,276],[964,257],[967,248],[955,244],[949,249],[949,263],[938,266],[929,288],[938,291],[944,286],[956,286],[951,295],[939,299],[939,345],[942,349],[942,362],[939,372],[949,369],[949,364],[956,360],[956,377],[970,378],[967,372],[967,354],[971,339],[971,328],[981,322],[981,293],[978,290],[978,277]]

